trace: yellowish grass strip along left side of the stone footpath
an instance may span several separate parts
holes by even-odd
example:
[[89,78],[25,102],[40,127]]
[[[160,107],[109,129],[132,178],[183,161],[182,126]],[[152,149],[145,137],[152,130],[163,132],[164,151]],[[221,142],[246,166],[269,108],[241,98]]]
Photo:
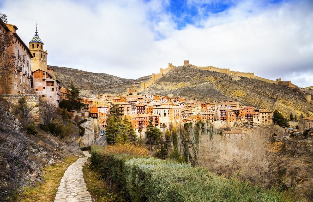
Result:
[[70,156],[63,163],[47,166],[42,170],[42,182],[33,186],[24,187],[20,193],[16,192],[6,201],[18,202],[53,202],[59,187],[60,180],[69,165],[73,164],[79,157]]

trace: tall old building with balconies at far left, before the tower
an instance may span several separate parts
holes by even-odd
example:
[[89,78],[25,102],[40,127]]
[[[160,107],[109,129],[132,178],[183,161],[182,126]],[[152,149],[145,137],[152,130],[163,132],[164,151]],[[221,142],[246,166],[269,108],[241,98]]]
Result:
[[[0,19],[0,32],[7,36],[13,36],[16,41],[2,52],[0,66],[1,68],[7,66],[7,68],[0,73],[0,94],[32,93],[32,53],[16,33],[17,29],[15,25],[4,23]],[[15,59],[12,58],[13,55]]]

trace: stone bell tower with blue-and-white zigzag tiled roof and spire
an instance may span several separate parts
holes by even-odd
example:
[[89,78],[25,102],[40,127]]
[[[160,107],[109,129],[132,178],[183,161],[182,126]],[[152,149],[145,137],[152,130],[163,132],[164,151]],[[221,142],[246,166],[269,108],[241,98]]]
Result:
[[47,50],[44,51],[44,43],[38,36],[37,24],[35,35],[29,42],[29,50],[33,55],[31,59],[31,71],[41,69],[47,72]]

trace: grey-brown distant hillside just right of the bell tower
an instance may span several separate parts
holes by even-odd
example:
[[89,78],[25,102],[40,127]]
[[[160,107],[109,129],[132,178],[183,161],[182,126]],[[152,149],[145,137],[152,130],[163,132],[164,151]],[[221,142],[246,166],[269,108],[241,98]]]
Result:
[[68,87],[69,81],[72,80],[76,86],[85,90],[83,93],[89,93],[90,90],[96,91],[98,88],[102,89],[103,87],[132,81],[132,79],[120,78],[106,73],[92,73],[79,69],[49,65],[48,68],[54,69],[54,75],[60,81],[61,86]]

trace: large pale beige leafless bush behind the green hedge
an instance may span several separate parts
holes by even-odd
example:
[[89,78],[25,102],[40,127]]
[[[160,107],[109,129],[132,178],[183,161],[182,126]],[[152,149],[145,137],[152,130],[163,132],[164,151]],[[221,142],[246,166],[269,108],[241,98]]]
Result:
[[238,176],[269,187],[279,181],[281,159],[269,150],[271,129],[255,129],[243,140],[201,139],[199,165],[225,177]]

